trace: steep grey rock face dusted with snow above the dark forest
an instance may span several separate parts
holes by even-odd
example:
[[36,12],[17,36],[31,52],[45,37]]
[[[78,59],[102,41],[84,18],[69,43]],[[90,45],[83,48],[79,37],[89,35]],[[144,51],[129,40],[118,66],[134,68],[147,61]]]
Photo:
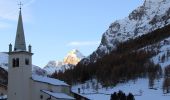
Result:
[[95,62],[111,52],[120,42],[147,34],[170,24],[170,0],[145,0],[128,17],[113,22],[102,36],[96,51],[81,63]]

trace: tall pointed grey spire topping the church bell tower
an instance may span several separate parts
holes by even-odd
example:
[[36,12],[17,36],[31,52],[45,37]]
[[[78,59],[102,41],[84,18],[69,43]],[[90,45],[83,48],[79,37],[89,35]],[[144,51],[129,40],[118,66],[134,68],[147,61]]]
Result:
[[21,9],[19,11],[18,26],[17,26],[17,33],[16,33],[15,47],[14,47],[14,51],[17,51],[17,50],[26,51]]

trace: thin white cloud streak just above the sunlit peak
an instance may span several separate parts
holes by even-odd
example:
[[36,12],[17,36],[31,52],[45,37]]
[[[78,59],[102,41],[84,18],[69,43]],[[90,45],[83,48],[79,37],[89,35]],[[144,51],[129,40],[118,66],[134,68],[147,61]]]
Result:
[[68,43],[68,46],[94,46],[99,45],[100,41],[72,41]]

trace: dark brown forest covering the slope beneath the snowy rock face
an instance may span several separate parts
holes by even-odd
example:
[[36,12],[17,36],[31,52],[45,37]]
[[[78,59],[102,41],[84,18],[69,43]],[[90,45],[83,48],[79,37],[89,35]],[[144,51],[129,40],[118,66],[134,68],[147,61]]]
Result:
[[95,63],[88,65],[79,63],[73,69],[56,72],[51,77],[64,80],[69,84],[95,78],[103,86],[114,86],[140,77],[148,77],[152,85],[153,79],[162,76],[161,67],[150,60],[159,52],[159,45],[153,44],[168,37],[170,37],[170,25],[119,43],[116,49]]

